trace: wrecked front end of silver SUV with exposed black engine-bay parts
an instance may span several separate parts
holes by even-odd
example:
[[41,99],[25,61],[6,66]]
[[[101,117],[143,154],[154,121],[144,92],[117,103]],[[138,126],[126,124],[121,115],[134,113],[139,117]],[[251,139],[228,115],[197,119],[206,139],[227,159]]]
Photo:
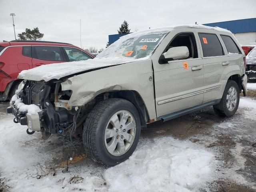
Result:
[[12,100],[8,112],[14,114],[14,122],[27,125],[28,129],[32,130],[32,132],[27,130],[28,134],[33,134],[35,131],[42,132],[43,139],[47,139],[50,134],[66,132],[73,134],[86,117],[81,116],[84,115],[85,106],[68,106],[72,91],[61,91],[61,82],[61,80],[56,82],[24,80],[16,91],[17,98],[25,105],[36,105],[41,110],[30,114],[28,110],[20,110],[21,107],[18,108],[20,105]]

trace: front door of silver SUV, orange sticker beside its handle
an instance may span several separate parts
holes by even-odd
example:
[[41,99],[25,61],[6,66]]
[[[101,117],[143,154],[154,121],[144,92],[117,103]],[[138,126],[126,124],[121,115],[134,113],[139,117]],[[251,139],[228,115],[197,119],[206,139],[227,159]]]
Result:
[[193,32],[176,35],[167,48],[187,46],[189,56],[182,60],[153,61],[158,117],[200,105],[203,102],[204,68],[198,57],[197,39]]

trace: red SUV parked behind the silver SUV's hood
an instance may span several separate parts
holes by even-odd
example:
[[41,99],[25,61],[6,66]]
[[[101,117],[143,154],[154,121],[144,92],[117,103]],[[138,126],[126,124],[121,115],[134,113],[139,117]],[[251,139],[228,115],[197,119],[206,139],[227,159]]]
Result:
[[47,41],[0,42],[0,101],[14,95],[22,70],[40,65],[92,59],[90,53],[68,43]]

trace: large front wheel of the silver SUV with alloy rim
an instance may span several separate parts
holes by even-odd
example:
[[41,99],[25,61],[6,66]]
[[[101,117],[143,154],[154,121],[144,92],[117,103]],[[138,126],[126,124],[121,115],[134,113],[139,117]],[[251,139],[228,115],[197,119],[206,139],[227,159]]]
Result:
[[[122,117],[124,121],[120,122]],[[140,128],[139,113],[131,102],[119,98],[101,101],[88,114],[84,123],[83,143],[86,153],[94,161],[106,166],[119,164],[134,152],[140,138]]]

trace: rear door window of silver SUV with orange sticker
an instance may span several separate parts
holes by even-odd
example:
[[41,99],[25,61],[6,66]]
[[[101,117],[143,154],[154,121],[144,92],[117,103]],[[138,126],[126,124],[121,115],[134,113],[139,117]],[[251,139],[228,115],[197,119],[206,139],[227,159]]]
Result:
[[198,35],[202,44],[204,57],[224,55],[220,41],[215,34],[199,33]]

